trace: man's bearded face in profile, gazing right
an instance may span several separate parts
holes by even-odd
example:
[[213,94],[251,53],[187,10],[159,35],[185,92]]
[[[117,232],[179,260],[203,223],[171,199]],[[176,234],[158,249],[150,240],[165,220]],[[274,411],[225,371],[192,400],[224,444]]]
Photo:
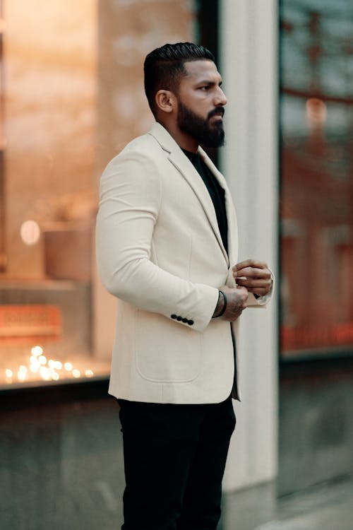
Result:
[[187,75],[181,78],[177,94],[179,130],[205,147],[220,147],[225,141],[222,116],[227,103],[220,73],[213,61],[204,59],[184,66]]

